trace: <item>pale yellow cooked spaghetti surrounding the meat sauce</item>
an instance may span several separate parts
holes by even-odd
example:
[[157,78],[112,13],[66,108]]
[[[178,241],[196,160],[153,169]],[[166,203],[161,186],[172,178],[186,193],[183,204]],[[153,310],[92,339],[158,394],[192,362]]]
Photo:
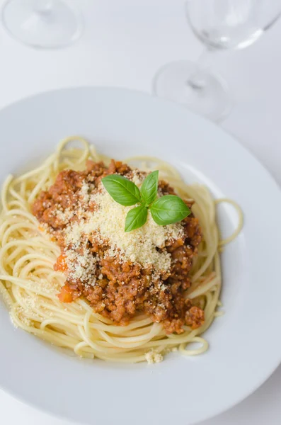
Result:
[[[67,148],[69,142],[81,142],[83,149]],[[30,206],[41,191],[49,188],[57,174],[64,169],[81,171],[86,160],[103,161],[92,145],[81,137],[68,137],[60,142],[57,151],[42,164],[22,176],[8,176],[1,191],[0,217],[0,292],[17,327],[56,346],[69,348],[77,356],[101,358],[106,361],[135,363],[160,361],[168,351],[193,356],[203,353],[208,343],[200,336],[215,317],[222,284],[219,249],[239,234],[243,225],[242,212],[236,203],[221,199],[214,201],[204,186],[187,186],[178,171],[166,162],[150,157],[134,157],[126,162],[144,171],[159,169],[161,179],[168,181],[178,195],[195,200],[193,214],[199,219],[203,232],[198,255],[190,273],[192,285],[186,297],[196,300],[205,312],[205,323],[198,329],[183,326],[182,334],[166,334],[160,323],[138,314],[127,326],[116,326],[110,319],[93,311],[82,298],[65,304],[57,293],[64,285],[65,276],[54,271],[60,254],[59,246],[47,233],[38,229],[38,221]],[[231,237],[219,241],[216,224],[216,205],[229,202],[239,213],[239,225]],[[200,343],[199,348],[188,344]]]

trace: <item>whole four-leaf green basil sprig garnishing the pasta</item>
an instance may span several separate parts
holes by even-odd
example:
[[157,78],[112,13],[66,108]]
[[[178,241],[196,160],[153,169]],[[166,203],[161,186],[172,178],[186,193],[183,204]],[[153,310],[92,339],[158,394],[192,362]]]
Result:
[[147,222],[150,210],[157,225],[166,226],[180,222],[190,215],[190,209],[176,195],[157,198],[159,171],[153,171],[143,181],[141,190],[130,180],[119,174],[110,174],[102,179],[103,186],[115,202],[124,206],[136,205],[127,213],[125,232],[142,227]]

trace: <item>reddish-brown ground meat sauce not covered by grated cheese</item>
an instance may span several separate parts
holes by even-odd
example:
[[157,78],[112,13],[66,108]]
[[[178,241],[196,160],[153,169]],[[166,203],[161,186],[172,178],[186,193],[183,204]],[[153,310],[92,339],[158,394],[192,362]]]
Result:
[[[204,323],[203,310],[184,297],[184,291],[190,287],[188,275],[193,256],[202,239],[200,226],[193,215],[182,222],[183,237],[166,242],[166,249],[172,258],[171,271],[166,276],[164,274],[155,279],[152,278],[153,267],[144,268],[140,264],[105,256],[107,242],[101,244],[93,234],[88,237],[85,246],[96,257],[95,285],[69,278],[63,255],[66,247],[64,229],[69,222],[77,220],[75,212],[79,203],[84,203],[84,209],[94,214],[94,205],[81,200],[83,183],[86,181],[97,188],[104,176],[115,173],[130,178],[132,170],[127,164],[114,160],[108,167],[103,162],[88,161],[85,171],[60,172],[55,184],[48,191],[42,192],[33,204],[33,214],[40,223],[47,225],[48,231],[62,249],[62,255],[54,266],[55,270],[67,275],[59,300],[71,302],[84,296],[95,312],[121,325],[128,324],[134,314],[144,312],[154,322],[161,322],[167,334],[180,334],[184,324],[192,329],[200,327]],[[159,181],[159,191],[162,195],[175,194],[173,188],[164,181]]]

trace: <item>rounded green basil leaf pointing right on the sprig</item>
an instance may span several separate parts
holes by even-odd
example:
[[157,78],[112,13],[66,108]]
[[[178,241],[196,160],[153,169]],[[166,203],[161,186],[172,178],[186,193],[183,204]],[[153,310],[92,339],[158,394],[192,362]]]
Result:
[[175,195],[165,195],[156,199],[150,207],[151,215],[157,225],[171,225],[190,215],[190,209],[182,199]]

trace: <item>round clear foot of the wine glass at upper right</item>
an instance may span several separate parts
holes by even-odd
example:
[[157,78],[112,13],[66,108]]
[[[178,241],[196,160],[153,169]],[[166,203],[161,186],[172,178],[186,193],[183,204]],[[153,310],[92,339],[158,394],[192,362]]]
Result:
[[[192,84],[198,71],[202,84]],[[156,96],[181,103],[216,122],[224,119],[231,111],[229,90],[224,80],[207,70],[198,70],[197,64],[193,62],[166,64],[154,77],[153,91]]]

